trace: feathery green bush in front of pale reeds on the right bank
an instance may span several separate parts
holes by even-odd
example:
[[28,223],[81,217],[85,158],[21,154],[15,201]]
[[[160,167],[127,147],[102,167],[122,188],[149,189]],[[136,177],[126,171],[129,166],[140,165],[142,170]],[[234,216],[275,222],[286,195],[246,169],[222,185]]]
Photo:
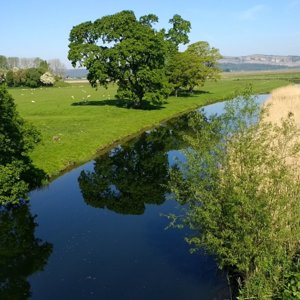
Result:
[[299,131],[291,118],[277,126],[257,122],[263,116],[248,91],[220,117],[199,114],[187,162],[172,172],[182,222],[195,232],[188,242],[238,274],[239,299],[275,299],[299,250],[300,187],[289,163],[299,159]]

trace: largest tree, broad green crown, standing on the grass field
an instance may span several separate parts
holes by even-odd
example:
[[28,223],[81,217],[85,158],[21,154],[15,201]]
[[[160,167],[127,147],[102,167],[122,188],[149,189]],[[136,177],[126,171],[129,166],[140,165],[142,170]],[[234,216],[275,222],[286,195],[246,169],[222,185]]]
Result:
[[118,85],[117,97],[140,107],[142,101],[160,104],[170,93],[165,61],[170,43],[186,43],[189,22],[174,16],[173,31],[156,31],[155,15],[136,19],[132,11],[105,16],[73,27],[69,60],[88,69],[93,87]]

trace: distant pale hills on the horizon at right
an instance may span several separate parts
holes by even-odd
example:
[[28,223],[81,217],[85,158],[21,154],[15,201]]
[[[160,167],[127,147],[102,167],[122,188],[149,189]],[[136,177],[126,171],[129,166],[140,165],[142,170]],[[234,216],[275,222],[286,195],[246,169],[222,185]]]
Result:
[[219,60],[224,71],[263,71],[300,69],[300,56],[263,55],[225,56]]

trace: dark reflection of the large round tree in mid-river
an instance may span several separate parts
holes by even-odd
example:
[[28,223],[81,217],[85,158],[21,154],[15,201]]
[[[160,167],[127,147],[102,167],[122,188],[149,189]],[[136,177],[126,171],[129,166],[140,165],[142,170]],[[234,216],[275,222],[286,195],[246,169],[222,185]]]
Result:
[[139,215],[145,204],[162,204],[168,192],[168,151],[180,147],[187,116],[169,122],[97,158],[78,181],[88,205]]

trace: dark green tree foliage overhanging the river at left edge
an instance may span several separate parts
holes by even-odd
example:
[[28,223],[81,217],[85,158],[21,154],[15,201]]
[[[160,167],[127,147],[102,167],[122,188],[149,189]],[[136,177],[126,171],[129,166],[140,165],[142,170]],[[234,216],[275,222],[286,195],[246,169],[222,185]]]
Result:
[[28,156],[39,139],[33,126],[17,113],[13,98],[0,87],[0,206],[25,199],[28,188],[42,179],[31,177],[42,173]]

